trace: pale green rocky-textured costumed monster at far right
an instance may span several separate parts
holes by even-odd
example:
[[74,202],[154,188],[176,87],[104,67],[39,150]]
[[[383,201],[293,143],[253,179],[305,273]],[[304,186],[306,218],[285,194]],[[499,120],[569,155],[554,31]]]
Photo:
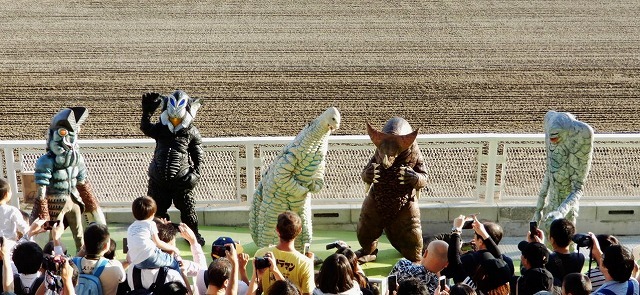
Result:
[[576,224],[591,168],[593,129],[570,113],[549,111],[544,116],[544,132],[547,167],[533,220],[549,233],[555,219],[566,218]]

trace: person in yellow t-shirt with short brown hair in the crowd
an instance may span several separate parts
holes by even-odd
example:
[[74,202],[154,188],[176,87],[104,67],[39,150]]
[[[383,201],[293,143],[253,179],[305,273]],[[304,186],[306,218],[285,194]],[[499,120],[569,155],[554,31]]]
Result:
[[[302,294],[311,294],[315,288],[313,259],[298,252],[294,247],[294,241],[301,231],[302,221],[298,214],[292,211],[279,214],[276,225],[278,244],[258,249],[254,257],[262,257],[267,252],[273,253],[273,257],[278,261],[276,267],[279,272],[298,286]],[[261,278],[262,290],[268,290],[276,280],[273,268],[269,268]]]

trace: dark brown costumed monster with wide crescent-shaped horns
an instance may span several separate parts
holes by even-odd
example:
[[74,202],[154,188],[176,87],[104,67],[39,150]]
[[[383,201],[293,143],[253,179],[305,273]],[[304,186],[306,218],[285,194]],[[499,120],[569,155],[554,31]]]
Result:
[[422,259],[422,227],[418,197],[427,184],[426,167],[409,123],[389,119],[382,132],[367,123],[376,151],[362,171],[368,194],[358,221],[356,251],[361,261],[376,259],[378,238],[386,233],[391,245],[413,262]]

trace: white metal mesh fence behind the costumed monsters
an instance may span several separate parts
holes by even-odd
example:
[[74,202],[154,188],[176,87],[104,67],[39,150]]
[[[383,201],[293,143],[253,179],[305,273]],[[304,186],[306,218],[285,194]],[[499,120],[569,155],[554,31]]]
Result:
[[[199,206],[245,204],[263,171],[293,137],[205,138]],[[530,200],[538,195],[545,168],[543,134],[419,135],[429,184],[423,202]],[[128,206],[145,195],[147,167],[155,142],[80,140],[88,179],[103,207]],[[22,174],[45,152],[43,140],[0,141],[1,171],[11,183],[13,204],[21,207]],[[325,187],[315,204],[360,203],[365,196],[360,172],[374,146],[367,136],[331,136]],[[596,134],[584,199],[640,199],[640,134]]]

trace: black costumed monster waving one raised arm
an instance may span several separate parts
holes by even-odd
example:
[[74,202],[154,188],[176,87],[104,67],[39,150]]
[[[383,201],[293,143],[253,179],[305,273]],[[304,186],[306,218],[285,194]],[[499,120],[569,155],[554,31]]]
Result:
[[[151,123],[151,116],[162,105],[160,121]],[[180,210],[180,220],[193,230],[197,241],[205,240],[198,232],[193,190],[200,180],[202,137],[193,120],[200,108],[200,99],[177,90],[168,96],[158,93],[142,95],[140,130],[155,139],[156,148],[149,164],[147,194],[156,201],[156,216],[169,220],[167,210],[173,203]]]

